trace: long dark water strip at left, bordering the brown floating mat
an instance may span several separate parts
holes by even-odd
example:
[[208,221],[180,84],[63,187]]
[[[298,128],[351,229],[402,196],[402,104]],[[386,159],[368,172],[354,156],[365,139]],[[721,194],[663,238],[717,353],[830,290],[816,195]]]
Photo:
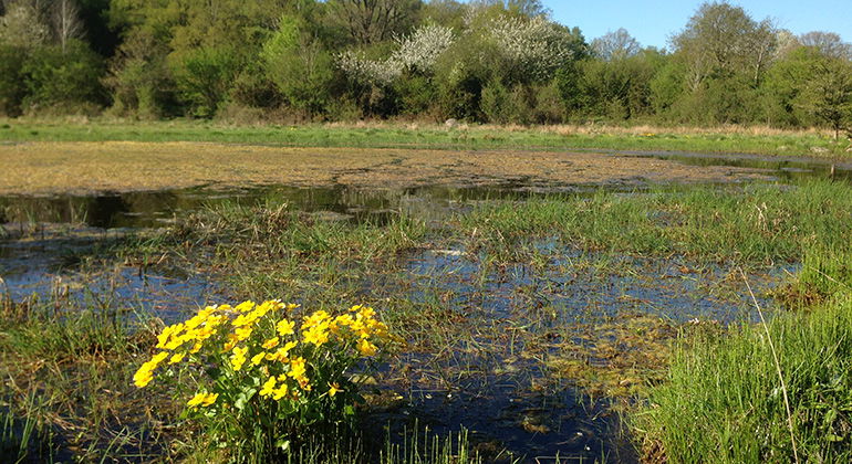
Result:
[[[573,191],[571,188],[555,191]],[[226,202],[287,203],[294,210],[357,221],[378,220],[405,212],[422,219],[445,215],[465,201],[526,198],[530,186],[424,187],[398,190],[363,190],[346,187],[260,187],[211,190],[191,188],[153,192],[98,193],[93,196],[0,197],[0,224],[55,222],[98,229],[160,228],[191,211]]]

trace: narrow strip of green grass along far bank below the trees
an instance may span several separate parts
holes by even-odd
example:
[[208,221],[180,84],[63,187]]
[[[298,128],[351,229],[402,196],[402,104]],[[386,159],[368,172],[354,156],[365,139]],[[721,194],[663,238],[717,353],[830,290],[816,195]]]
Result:
[[240,126],[198,120],[0,120],[4,141],[208,141],[291,147],[678,150],[846,158],[849,141],[767,128],[499,127],[427,124]]

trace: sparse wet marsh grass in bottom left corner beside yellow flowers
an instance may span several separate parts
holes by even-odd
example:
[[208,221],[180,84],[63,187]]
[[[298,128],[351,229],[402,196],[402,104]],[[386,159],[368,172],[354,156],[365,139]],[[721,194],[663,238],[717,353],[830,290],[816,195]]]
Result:
[[[144,461],[169,450],[165,437],[175,430],[164,432],[162,424],[176,408],[131,382],[141,347],[154,338],[145,326],[133,327],[93,302],[2,296],[0,402],[22,424],[14,429],[22,432],[4,434],[21,450],[18,458],[52,458],[58,450],[44,446],[45,436],[56,439],[60,454],[82,462],[105,455]],[[153,404],[162,408],[153,411]]]

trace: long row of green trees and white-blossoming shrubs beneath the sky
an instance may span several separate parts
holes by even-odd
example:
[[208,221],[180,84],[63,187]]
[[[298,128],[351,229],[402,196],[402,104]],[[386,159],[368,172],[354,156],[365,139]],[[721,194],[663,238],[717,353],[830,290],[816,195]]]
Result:
[[702,4],[667,49],[539,0],[0,0],[0,113],[829,126],[852,45]]

